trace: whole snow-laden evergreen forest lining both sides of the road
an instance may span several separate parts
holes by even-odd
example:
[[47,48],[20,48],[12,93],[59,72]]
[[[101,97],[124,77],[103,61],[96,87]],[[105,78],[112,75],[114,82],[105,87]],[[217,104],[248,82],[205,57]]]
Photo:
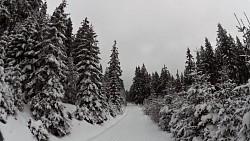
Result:
[[185,69],[176,74],[167,65],[160,73],[137,66],[126,91],[118,42],[111,41],[103,69],[94,26],[85,18],[74,34],[66,7],[62,0],[49,15],[43,0],[0,0],[0,141],[10,139],[10,119],[24,121],[34,140],[54,141],[82,122],[125,117],[127,102],[176,141],[250,141],[247,16],[248,26],[237,26],[242,37],[218,24],[215,46],[205,38],[197,50],[187,48]]

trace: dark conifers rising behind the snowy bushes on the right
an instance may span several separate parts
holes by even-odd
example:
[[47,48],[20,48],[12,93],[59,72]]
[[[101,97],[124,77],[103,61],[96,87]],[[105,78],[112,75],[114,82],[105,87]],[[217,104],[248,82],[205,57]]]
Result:
[[211,84],[231,82],[244,84],[250,78],[247,56],[250,55],[238,37],[230,34],[218,24],[217,44],[214,49],[205,38],[205,45],[196,50],[194,58],[187,48],[184,74],[170,74],[164,66],[160,75],[157,72],[150,75],[145,65],[136,67],[133,84],[128,100],[142,104],[150,95],[164,96],[168,93],[187,91],[193,84]]

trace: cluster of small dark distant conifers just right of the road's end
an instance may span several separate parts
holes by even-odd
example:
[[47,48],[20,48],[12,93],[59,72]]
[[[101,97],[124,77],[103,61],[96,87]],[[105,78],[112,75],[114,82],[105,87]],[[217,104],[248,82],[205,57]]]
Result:
[[[179,76],[178,71],[177,76]],[[144,100],[151,95],[164,97],[169,92],[180,91],[182,89],[181,81],[180,77],[178,77],[178,80],[175,80],[165,65],[160,75],[157,72],[150,75],[143,64],[141,68],[139,66],[136,67],[135,77],[127,95],[127,100],[143,104]]]

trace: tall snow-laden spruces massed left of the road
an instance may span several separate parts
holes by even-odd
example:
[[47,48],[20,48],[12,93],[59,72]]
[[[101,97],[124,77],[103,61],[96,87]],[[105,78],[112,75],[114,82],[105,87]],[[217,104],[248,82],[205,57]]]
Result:
[[37,140],[69,134],[72,118],[101,124],[125,106],[116,41],[103,74],[92,24],[84,19],[74,35],[66,6],[48,15],[42,0],[0,1],[0,122],[28,107]]

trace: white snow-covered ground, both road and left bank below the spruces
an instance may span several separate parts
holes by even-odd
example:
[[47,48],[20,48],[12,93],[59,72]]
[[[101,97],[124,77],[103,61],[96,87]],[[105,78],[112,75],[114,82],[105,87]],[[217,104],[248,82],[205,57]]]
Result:
[[[74,106],[66,105],[69,111]],[[27,127],[28,111],[9,117],[7,124],[0,123],[4,141],[35,141]],[[171,135],[161,131],[141,108],[129,104],[124,115],[111,118],[103,125],[91,125],[85,121],[72,120],[71,134],[50,141],[174,141]]]

